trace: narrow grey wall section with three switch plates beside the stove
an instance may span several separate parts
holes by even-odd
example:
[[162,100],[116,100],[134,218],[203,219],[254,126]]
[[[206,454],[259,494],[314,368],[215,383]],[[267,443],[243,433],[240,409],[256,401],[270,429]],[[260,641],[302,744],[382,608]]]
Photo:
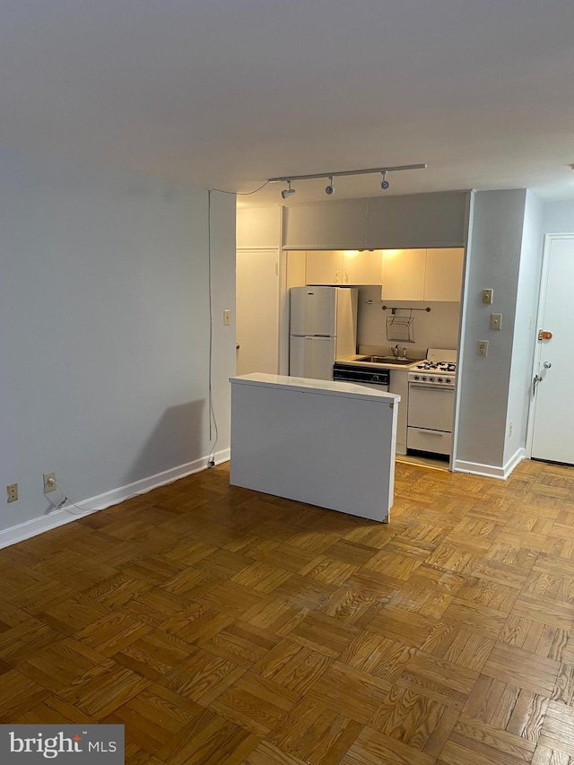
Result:
[[[517,311],[517,283],[522,253],[526,190],[474,194],[467,248],[463,347],[458,387],[455,466],[501,474],[504,469],[509,380]],[[494,291],[491,305],[483,289]],[[490,329],[491,313],[502,314],[502,329]],[[489,341],[487,358],[476,352]],[[465,463],[465,465],[461,465]]]

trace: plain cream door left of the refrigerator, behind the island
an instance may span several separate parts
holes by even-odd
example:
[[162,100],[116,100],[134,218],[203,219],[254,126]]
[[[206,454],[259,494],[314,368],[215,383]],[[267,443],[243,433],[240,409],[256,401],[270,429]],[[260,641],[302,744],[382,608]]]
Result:
[[279,253],[238,250],[236,271],[237,374],[277,374],[279,340]]

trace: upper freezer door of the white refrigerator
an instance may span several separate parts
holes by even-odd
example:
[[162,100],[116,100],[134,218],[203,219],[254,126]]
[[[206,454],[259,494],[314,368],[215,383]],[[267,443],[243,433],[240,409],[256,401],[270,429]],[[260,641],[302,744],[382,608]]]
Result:
[[290,296],[290,335],[335,335],[335,287],[291,287]]

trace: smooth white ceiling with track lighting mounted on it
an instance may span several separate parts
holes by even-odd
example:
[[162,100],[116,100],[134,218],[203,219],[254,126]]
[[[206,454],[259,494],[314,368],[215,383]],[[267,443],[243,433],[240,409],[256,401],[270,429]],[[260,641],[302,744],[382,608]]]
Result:
[[[572,0],[0,0],[0,140],[292,204],[574,198]],[[278,204],[276,184],[243,199]]]

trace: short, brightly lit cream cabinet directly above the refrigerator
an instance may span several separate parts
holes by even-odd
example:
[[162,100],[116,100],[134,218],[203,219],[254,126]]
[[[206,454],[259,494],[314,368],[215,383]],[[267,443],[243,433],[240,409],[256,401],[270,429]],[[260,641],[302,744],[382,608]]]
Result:
[[305,281],[343,287],[380,284],[380,250],[308,250]]

